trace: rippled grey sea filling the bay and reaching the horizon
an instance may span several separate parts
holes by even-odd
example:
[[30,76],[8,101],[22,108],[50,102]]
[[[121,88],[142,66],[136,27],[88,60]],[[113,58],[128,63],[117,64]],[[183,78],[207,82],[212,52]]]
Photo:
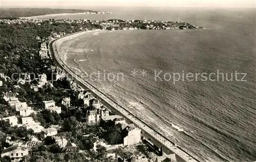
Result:
[[84,34],[62,44],[72,70],[200,161],[256,160],[255,9],[98,10],[112,14],[50,18],[145,17],[206,29]]

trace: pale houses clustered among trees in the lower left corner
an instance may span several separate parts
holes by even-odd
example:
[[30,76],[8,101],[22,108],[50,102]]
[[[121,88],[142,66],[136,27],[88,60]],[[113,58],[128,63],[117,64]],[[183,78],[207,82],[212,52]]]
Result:
[[[40,123],[37,123],[33,120],[31,116],[31,113],[35,112],[31,107],[27,105],[26,102],[19,102],[19,100],[16,98],[15,93],[7,92],[6,94],[3,94],[3,98],[5,101],[8,102],[8,104],[15,109],[16,111],[19,111],[19,117],[21,118],[22,123],[18,124],[18,118],[16,116],[6,117],[3,118],[3,115],[0,115],[0,120],[5,120],[6,122],[9,122],[10,126],[14,127],[23,127],[26,130],[33,130],[34,133],[40,133],[44,132],[44,137],[47,136],[53,136],[56,145],[60,147],[60,149],[65,151],[76,151],[76,145],[74,143],[71,143],[70,140],[67,140],[66,138],[57,136],[58,130],[55,127],[50,128],[44,128],[40,125]],[[54,101],[44,101],[44,108],[49,109],[51,111],[56,111],[57,113],[61,113],[61,108],[58,106],[55,106]],[[66,106],[70,106],[70,98],[63,98],[62,104]],[[34,137],[35,138],[35,137]],[[32,138],[31,138],[32,140]],[[32,140],[33,141],[33,140]],[[33,145],[40,145],[42,144],[41,141],[35,140],[36,142],[33,143]],[[25,144],[20,141],[12,141],[10,136],[6,136],[6,142],[11,145],[9,148],[4,148],[4,150],[1,153],[1,157],[9,156],[12,161],[19,161],[22,159],[23,156],[30,154],[32,144]],[[31,142],[30,142],[31,143]],[[47,148],[52,147],[47,146]]]

